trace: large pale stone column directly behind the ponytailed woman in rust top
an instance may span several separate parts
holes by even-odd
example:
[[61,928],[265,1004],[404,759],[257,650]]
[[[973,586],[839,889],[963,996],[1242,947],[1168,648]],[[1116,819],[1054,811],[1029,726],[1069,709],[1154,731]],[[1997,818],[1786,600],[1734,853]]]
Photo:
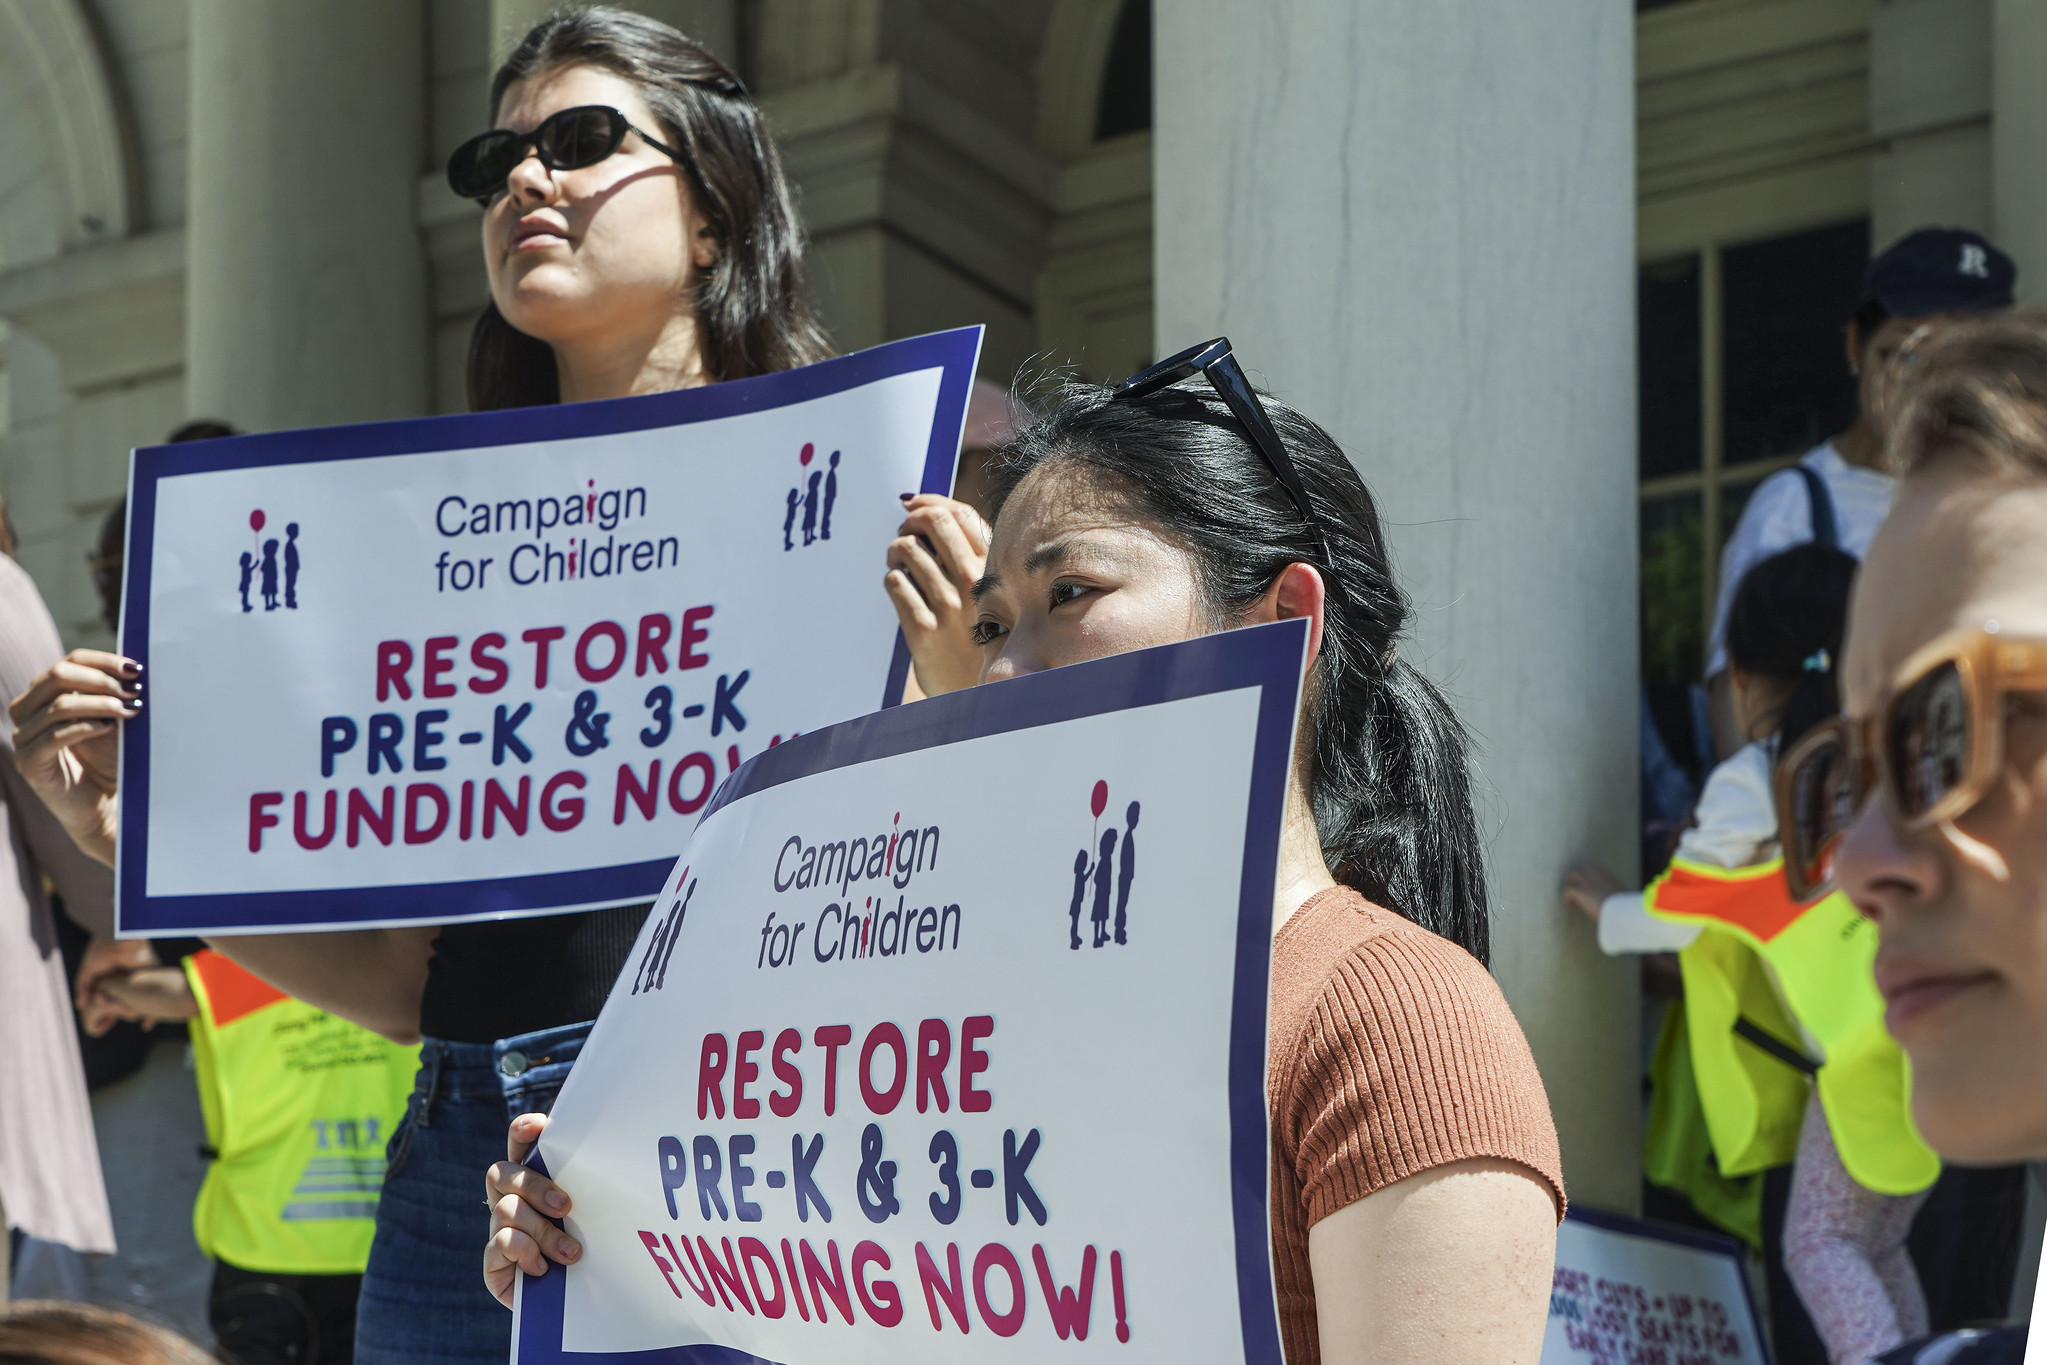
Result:
[[1492,968],[1572,1197],[1638,1203],[1636,962],[1558,900],[1636,870],[1634,14],[1157,8],[1161,354],[1228,334],[1380,499],[1408,647],[1480,749]]

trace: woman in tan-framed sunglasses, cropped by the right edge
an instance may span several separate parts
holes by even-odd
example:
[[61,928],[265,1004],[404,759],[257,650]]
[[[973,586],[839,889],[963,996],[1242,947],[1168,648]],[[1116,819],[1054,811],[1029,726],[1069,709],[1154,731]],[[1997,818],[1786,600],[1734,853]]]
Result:
[[[2047,323],[1906,358],[1902,473],[1855,589],[1844,714],[1785,755],[1797,890],[1875,921],[1885,1023],[1943,1156],[2047,1158]],[[2024,1332],[1883,1357],[2016,1361]]]

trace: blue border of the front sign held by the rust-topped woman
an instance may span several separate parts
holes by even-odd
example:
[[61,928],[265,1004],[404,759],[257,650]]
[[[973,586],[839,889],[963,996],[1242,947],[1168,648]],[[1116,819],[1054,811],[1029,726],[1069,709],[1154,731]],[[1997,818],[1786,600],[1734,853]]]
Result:
[[[1007,735],[1138,706],[1259,688],[1259,718],[1245,802],[1245,862],[1236,886],[1236,976],[1230,999],[1230,1214],[1236,1240],[1236,1308],[1243,1361],[1281,1365],[1271,1279],[1269,1154],[1265,1134],[1265,1005],[1271,980],[1273,882],[1279,821],[1294,755],[1306,620],[1281,620],[1140,649],[1011,681],[950,692],[917,706],[845,720],[776,745],[739,765],[704,810],[854,763]],[[542,1142],[545,1146],[545,1142]],[[563,1351],[567,1267],[520,1277],[518,1365],[776,1365],[733,1347]],[[1099,1320],[1097,1320],[1099,1322]],[[1234,1359],[1234,1357],[1232,1357]]]

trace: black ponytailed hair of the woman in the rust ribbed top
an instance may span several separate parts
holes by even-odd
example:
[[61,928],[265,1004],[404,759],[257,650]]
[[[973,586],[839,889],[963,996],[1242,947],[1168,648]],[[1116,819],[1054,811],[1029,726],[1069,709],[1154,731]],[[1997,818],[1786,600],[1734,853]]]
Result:
[[1320,426],[1265,399],[1300,469],[1316,538],[1216,397],[1165,389],[1136,403],[1066,383],[1032,407],[995,465],[995,505],[1034,469],[1073,465],[1126,493],[1187,546],[1212,622],[1226,628],[1292,563],[1329,585],[1322,653],[1304,700],[1314,726],[1310,800],[1339,882],[1480,962],[1490,956],[1486,868],[1472,814],[1470,741],[1435,684],[1398,657],[1408,602],[1357,469]]

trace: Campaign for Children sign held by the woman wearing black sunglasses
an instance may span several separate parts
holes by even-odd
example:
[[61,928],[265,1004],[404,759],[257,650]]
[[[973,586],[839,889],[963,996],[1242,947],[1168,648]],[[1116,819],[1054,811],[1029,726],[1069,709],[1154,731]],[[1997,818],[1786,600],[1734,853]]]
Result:
[[137,450],[121,933],[651,898],[747,755],[899,696],[978,346]]

